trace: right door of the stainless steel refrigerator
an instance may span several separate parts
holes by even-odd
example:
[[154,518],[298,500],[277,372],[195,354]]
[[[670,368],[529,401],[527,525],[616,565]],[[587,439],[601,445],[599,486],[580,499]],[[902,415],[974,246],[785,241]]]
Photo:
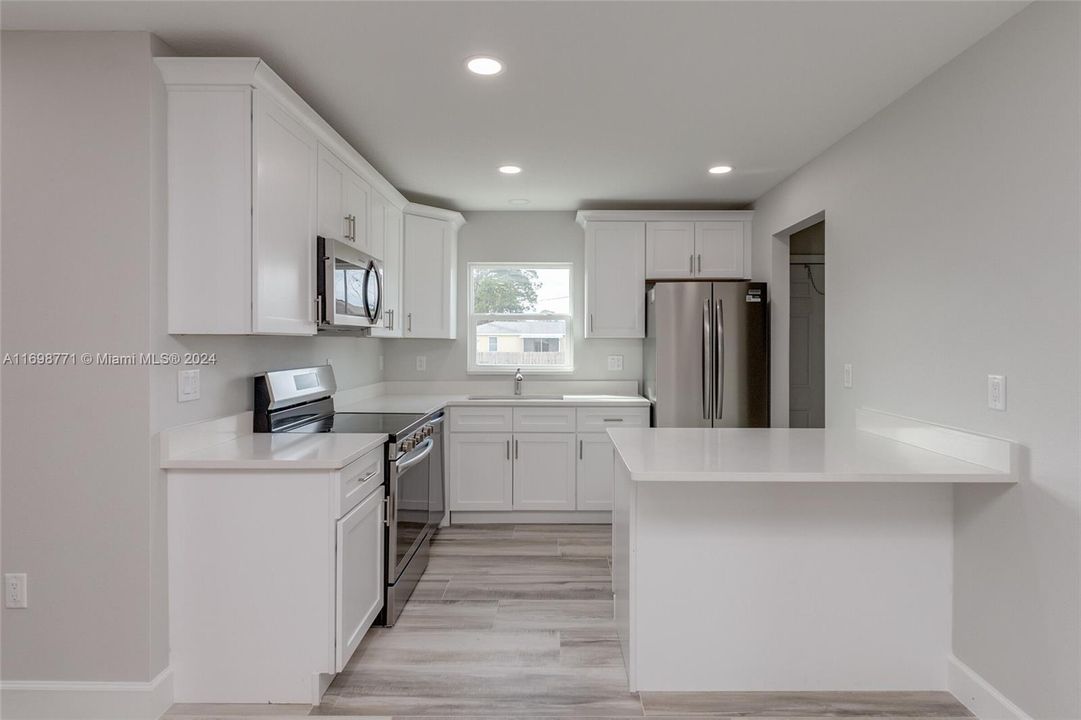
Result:
[[770,426],[765,283],[715,282],[713,427]]

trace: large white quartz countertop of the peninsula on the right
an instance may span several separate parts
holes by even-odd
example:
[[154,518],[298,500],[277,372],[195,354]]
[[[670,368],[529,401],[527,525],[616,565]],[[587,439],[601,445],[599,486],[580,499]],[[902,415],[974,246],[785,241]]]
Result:
[[619,428],[642,482],[1015,482],[1007,471],[862,430]]

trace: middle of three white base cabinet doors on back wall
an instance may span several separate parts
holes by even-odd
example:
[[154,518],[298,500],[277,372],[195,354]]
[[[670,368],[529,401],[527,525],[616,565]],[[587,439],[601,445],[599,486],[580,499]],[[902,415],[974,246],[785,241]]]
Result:
[[574,436],[570,432],[515,435],[515,509],[573,510]]

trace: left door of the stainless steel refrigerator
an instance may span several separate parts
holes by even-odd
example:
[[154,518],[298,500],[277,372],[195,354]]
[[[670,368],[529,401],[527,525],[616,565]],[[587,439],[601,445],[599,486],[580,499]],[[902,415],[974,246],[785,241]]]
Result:
[[656,427],[710,427],[712,285],[657,282],[646,296],[645,392]]

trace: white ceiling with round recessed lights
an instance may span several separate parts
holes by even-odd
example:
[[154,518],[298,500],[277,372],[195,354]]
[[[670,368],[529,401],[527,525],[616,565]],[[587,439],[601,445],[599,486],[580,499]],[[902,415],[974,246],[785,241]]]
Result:
[[[415,200],[733,208],[1023,5],[5,0],[2,26],[150,30],[182,55],[263,57]],[[506,71],[466,72],[479,53]],[[706,173],[721,163],[735,171]]]

